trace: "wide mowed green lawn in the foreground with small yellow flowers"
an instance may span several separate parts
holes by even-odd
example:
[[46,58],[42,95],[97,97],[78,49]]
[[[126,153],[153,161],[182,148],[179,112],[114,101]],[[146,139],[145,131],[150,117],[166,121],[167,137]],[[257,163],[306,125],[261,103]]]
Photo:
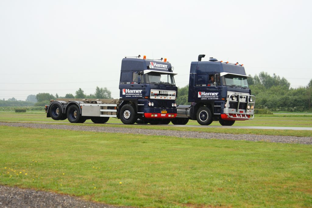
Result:
[[7,126],[0,135],[2,185],[123,206],[312,206],[310,145]]

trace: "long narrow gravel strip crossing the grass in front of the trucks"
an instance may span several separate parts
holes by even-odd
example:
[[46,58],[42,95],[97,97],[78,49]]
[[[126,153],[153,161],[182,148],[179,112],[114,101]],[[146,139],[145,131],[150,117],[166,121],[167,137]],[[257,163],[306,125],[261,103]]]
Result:
[[229,140],[247,140],[247,141],[266,141],[266,142],[276,142],[276,143],[312,144],[312,137],[272,136],[272,135],[256,135],[256,134],[230,134],[230,133],[204,133],[204,132],[195,132],[195,131],[117,128],[117,127],[104,127],[104,126],[69,126],[69,125],[55,125],[55,124],[42,124],[42,123],[39,124],[39,123],[3,123],[3,122],[0,122],[0,125],[14,126],[14,127],[29,127],[29,128],[65,129],[65,130],[74,130],[74,131],[173,136],[173,137],[180,137],[180,138],[229,139]]

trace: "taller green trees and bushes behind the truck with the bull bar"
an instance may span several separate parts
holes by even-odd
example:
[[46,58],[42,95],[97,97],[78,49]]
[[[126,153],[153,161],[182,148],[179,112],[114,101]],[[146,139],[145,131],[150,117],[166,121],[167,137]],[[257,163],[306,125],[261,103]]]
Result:
[[[311,111],[312,79],[307,86],[291,88],[284,77],[267,72],[248,77],[247,82],[251,94],[256,97],[256,109],[269,109],[272,111]],[[178,88],[177,104],[189,105],[188,85]]]

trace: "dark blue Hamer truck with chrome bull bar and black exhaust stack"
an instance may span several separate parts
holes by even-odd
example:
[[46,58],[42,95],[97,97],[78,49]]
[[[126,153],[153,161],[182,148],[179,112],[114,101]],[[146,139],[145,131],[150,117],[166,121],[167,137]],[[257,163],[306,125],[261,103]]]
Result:
[[178,105],[177,118],[173,124],[184,125],[188,120],[197,120],[201,125],[219,121],[231,126],[237,120],[254,117],[255,97],[248,88],[247,75],[243,65],[218,61],[210,58],[191,62],[188,102],[192,105]]

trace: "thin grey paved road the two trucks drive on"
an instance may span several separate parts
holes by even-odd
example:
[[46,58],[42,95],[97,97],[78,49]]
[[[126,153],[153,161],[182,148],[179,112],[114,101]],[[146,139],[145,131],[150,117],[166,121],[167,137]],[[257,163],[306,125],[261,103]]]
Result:
[[[8,121],[10,123],[69,123],[69,122],[46,122],[46,121]],[[89,122],[85,122],[89,123]],[[92,123],[92,122],[90,122]],[[124,125],[123,123],[105,123],[100,125]],[[150,124],[134,124],[134,125],[150,125]],[[158,125],[167,126],[167,125]],[[312,127],[282,127],[282,126],[202,126],[202,125],[174,125],[174,127],[197,127],[197,128],[240,128],[240,129],[276,129],[276,130],[311,130]]]

